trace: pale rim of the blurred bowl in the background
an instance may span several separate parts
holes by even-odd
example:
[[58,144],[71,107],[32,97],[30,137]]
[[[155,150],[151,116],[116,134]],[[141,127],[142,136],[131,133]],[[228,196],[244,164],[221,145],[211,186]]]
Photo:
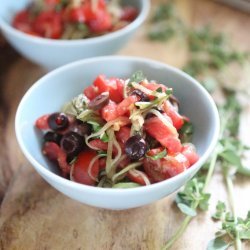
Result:
[[84,39],[75,39],[75,40],[59,40],[59,39],[50,39],[50,38],[43,38],[43,37],[36,37],[29,35],[27,33],[24,33],[18,29],[15,29],[12,27],[10,23],[5,21],[0,16],[0,29],[3,29],[6,33],[10,33],[13,36],[16,36],[17,38],[34,42],[36,44],[40,45],[49,45],[49,46],[72,46],[72,45],[88,45],[93,43],[102,43],[105,41],[109,41],[112,39],[116,39],[126,33],[129,33],[130,31],[133,31],[137,27],[139,27],[144,20],[147,18],[149,10],[150,10],[150,0],[140,0],[142,3],[142,8],[139,13],[139,15],[136,17],[135,20],[133,20],[131,23],[129,23],[127,26],[125,26],[122,29],[119,29],[117,31],[113,31],[111,33],[107,33],[105,35],[92,37],[92,38],[84,38]]

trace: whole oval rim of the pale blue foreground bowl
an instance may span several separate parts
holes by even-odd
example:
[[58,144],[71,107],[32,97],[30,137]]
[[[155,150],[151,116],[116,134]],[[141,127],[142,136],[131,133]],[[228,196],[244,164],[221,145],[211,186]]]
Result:
[[[70,70],[71,68],[74,68],[78,65],[83,66],[84,64],[88,64],[88,63],[98,63],[99,61],[110,61],[110,60],[145,63],[148,65],[152,65],[154,68],[168,69],[172,72],[175,72],[175,73],[183,76],[184,78],[187,78],[207,98],[208,103],[209,103],[210,108],[211,108],[211,111],[212,111],[213,116],[214,116],[214,130],[215,130],[215,132],[213,134],[213,137],[211,139],[209,146],[205,150],[205,153],[202,156],[200,156],[198,162],[196,162],[194,165],[192,165],[191,168],[187,169],[186,171],[184,171],[176,176],[171,177],[170,179],[167,179],[167,180],[164,180],[164,181],[161,181],[158,183],[153,183],[153,184],[148,185],[148,186],[129,188],[129,189],[102,188],[102,187],[88,186],[85,184],[81,184],[81,183],[77,183],[77,182],[73,182],[71,180],[65,179],[65,178],[51,172],[49,169],[45,168],[42,164],[40,164],[38,161],[36,161],[35,158],[29,153],[29,151],[25,147],[25,143],[22,140],[21,129],[19,126],[19,120],[21,118],[22,106],[26,102],[26,100],[29,98],[29,96],[32,95],[32,92],[34,90],[36,90],[36,88],[38,88],[40,85],[44,84],[44,82],[46,82],[47,79],[51,78],[54,75],[61,74],[61,72],[63,72],[64,70]],[[18,108],[16,111],[16,116],[15,116],[15,132],[16,132],[17,141],[19,143],[19,146],[20,146],[23,154],[29,160],[31,165],[39,172],[39,174],[42,175],[42,177],[46,176],[46,178],[48,178],[49,180],[53,179],[54,182],[57,182],[58,184],[60,184],[64,187],[67,187],[67,188],[73,188],[73,189],[88,191],[88,192],[92,192],[92,193],[99,191],[99,192],[101,192],[101,194],[108,194],[108,195],[114,195],[117,193],[120,193],[121,195],[137,193],[139,195],[139,194],[144,193],[145,191],[153,191],[153,190],[161,189],[166,185],[166,183],[168,183],[169,185],[172,185],[175,181],[178,181],[181,178],[183,178],[183,176],[192,175],[191,174],[192,172],[196,173],[201,168],[201,166],[206,162],[206,160],[208,159],[210,154],[213,152],[213,150],[217,144],[217,141],[219,139],[219,133],[220,133],[220,118],[219,118],[219,113],[218,113],[218,109],[215,105],[215,102],[214,102],[213,98],[211,97],[211,95],[207,92],[207,90],[197,80],[195,80],[193,77],[189,76],[187,73],[181,71],[180,69],[175,68],[173,66],[170,66],[170,65],[163,63],[163,62],[159,62],[159,61],[152,60],[152,59],[146,59],[143,57],[101,56],[101,57],[89,58],[89,59],[84,59],[84,60],[79,60],[79,61],[69,63],[67,65],[64,65],[62,67],[59,67],[59,68],[49,72],[48,74],[44,75],[42,78],[37,80],[28,89],[28,91],[24,94],[23,98],[21,99],[21,101],[18,105]],[[195,171],[193,171],[193,170],[195,170]]]

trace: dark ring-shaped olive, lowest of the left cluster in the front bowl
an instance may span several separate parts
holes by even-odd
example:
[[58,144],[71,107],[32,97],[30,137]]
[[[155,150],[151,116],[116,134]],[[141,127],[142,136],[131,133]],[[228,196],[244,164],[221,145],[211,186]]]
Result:
[[61,148],[71,157],[79,154],[84,145],[84,137],[75,132],[68,132],[61,140]]

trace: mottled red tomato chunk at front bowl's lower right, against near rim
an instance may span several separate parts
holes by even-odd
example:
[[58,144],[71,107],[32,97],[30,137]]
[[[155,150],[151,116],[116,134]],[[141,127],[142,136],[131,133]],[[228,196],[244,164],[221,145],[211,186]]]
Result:
[[159,160],[145,158],[143,166],[151,180],[159,182],[184,172],[189,167],[189,161],[183,154],[177,153]]

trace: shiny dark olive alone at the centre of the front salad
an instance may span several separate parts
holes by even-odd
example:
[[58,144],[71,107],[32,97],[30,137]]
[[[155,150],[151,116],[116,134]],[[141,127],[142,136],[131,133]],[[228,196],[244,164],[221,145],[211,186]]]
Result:
[[125,143],[125,152],[131,160],[141,159],[147,151],[147,143],[140,135],[130,137]]

